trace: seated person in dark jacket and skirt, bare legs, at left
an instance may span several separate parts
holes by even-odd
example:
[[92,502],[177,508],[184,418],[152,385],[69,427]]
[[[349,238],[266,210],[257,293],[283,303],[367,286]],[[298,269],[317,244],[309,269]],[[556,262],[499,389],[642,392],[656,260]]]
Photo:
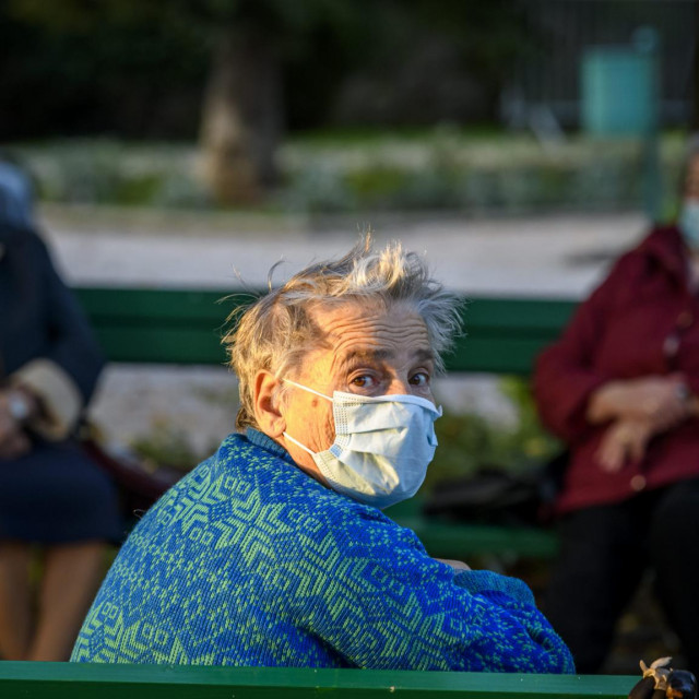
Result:
[[121,534],[114,487],[70,439],[103,359],[33,229],[28,181],[7,163],[0,309],[0,657],[61,661],[99,584],[106,542]]

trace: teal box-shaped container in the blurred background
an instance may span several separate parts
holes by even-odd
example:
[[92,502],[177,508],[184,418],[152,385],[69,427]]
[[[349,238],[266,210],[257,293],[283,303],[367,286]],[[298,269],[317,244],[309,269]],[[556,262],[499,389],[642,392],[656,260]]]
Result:
[[581,126],[591,135],[648,135],[657,127],[657,55],[600,47],[582,60]]

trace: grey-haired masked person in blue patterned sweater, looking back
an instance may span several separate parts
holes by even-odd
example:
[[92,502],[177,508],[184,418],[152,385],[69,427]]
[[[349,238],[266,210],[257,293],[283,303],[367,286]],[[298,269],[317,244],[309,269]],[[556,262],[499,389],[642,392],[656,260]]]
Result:
[[422,260],[359,245],[227,337],[238,427],[123,546],[72,660],[572,672],[519,580],[430,558],[381,512],[419,487],[458,325]]

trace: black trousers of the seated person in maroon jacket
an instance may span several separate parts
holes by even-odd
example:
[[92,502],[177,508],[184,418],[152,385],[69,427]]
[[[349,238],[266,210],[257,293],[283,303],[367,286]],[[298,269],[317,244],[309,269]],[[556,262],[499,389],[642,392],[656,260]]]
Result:
[[600,670],[616,621],[650,567],[683,644],[683,670],[699,676],[699,478],[573,512],[560,532],[562,548],[543,606],[578,672]]

